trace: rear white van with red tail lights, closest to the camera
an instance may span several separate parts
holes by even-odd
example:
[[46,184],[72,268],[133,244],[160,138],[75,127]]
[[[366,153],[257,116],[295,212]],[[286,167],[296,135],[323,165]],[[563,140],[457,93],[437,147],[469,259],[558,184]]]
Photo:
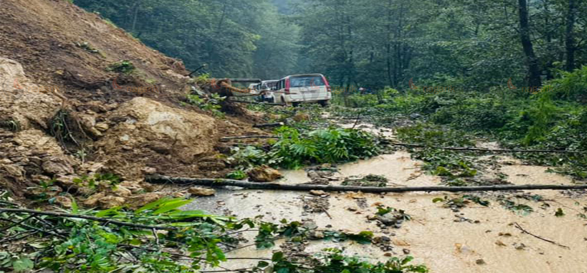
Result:
[[284,105],[298,105],[302,102],[318,102],[328,105],[332,92],[322,74],[291,75],[282,78],[274,88],[275,102]]

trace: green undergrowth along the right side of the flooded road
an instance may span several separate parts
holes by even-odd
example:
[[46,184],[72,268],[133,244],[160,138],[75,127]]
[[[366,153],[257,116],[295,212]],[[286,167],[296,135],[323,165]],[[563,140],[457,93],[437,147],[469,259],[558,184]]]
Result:
[[[536,94],[501,89],[431,93],[387,88],[377,95],[343,96],[346,103],[339,104],[356,110],[336,106],[333,111],[348,119],[369,118],[377,126],[398,127],[400,140],[425,146],[410,149],[415,151],[415,158],[427,163],[427,170],[444,177],[473,177],[475,171],[481,171],[473,163],[481,153],[455,153],[438,147],[474,147],[497,141],[505,148],[587,151],[587,110],[579,92],[585,86],[578,80],[585,74],[587,67],[562,72],[561,78],[545,84],[543,89],[548,92]],[[527,163],[552,167],[553,172],[578,181],[587,179],[585,153],[512,155]]]

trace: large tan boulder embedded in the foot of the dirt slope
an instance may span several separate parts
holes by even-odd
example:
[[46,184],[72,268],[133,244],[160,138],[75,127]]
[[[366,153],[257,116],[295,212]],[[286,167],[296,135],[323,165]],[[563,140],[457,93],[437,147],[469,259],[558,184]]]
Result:
[[175,163],[197,165],[214,151],[216,120],[201,113],[137,97],[105,119],[109,129],[96,141],[96,154],[127,179],[143,177],[145,165],[157,172]]

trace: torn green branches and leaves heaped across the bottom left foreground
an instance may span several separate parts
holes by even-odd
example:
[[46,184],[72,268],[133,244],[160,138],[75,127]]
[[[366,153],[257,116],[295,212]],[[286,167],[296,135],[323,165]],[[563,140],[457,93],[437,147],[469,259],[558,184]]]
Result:
[[[257,229],[258,248],[275,240],[355,240],[369,244],[373,234],[340,233],[283,220],[279,224],[258,219],[208,215],[200,210],[179,210],[189,199],[160,199],[136,210],[114,207],[85,210],[73,203],[69,212],[0,209],[0,269],[16,272],[50,269],[55,272],[207,272],[231,260],[239,234]],[[322,234],[316,236],[316,234]],[[411,257],[370,262],[327,248],[304,258],[278,251],[271,257],[239,258],[258,261],[247,272],[428,272],[411,265]],[[214,272],[214,271],[212,271]]]

